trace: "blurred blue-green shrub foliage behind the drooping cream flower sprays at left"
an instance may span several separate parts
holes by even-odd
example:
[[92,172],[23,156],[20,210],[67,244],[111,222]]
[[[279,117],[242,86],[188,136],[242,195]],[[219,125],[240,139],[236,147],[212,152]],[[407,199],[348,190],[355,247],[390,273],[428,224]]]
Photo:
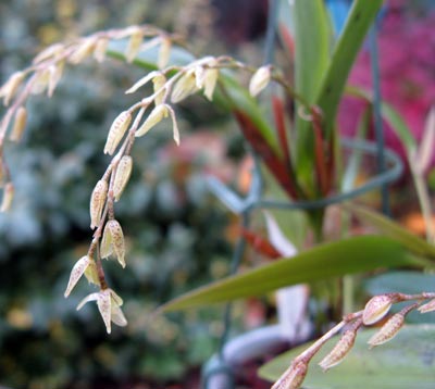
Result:
[[[167,3],[3,0],[0,78],[27,65],[41,47],[70,36],[144,22],[171,29],[173,8],[182,1]],[[144,381],[157,388],[179,381],[215,349],[221,309],[150,316],[163,301],[225,275],[231,258],[227,216],[201,179],[209,156],[181,164],[176,152],[160,152],[169,129],[138,142],[133,179],[116,204],[128,266],[107,268],[125,301],[128,326],[108,338],[94,306],[76,312],[92,291],[83,280],[63,298],[70,271],[90,242],[88,201],[108,163],[107,129],[133,102],[123,91],[140,75],[115,62],[69,71],[53,99],[32,100],[24,145],[8,150],[16,198],[11,212],[0,215],[0,385],[86,388]],[[187,129],[187,120],[198,124],[210,115],[185,117]]]

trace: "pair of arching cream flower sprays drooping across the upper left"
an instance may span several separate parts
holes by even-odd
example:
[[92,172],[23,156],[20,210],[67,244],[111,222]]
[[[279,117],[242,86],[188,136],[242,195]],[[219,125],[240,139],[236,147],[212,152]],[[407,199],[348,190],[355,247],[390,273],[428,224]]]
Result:
[[171,117],[173,139],[179,145],[173,104],[198,92],[212,100],[220,70],[223,67],[245,68],[253,73],[249,86],[252,97],[260,93],[272,78],[270,66],[256,71],[228,57],[207,57],[185,66],[165,67],[172,45],[178,38],[147,25],[96,33],[71,43],[52,45],[35,58],[32,66],[14,73],[0,88],[0,98],[3,99],[4,105],[9,106],[0,122],[0,187],[3,187],[1,211],[10,208],[14,192],[2,153],[3,143],[8,133],[11,141],[20,141],[22,138],[27,120],[25,108],[27,99],[32,95],[42,92],[51,97],[62,78],[65,65],[77,65],[87,58],[103,62],[110,52],[111,41],[120,39],[127,40],[124,51],[124,59],[127,62],[133,62],[140,52],[158,47],[158,70],[146,74],[126,91],[134,93],[152,83],[151,96],[121,112],[109,129],[103,152],[111,155],[111,162],[97,181],[89,204],[94,238],[87,254],[73,266],[65,290],[65,297],[69,297],[83,276],[97,286],[100,290],[85,298],[77,309],[88,301],[97,301],[108,332],[111,331],[111,322],[120,326],[127,323],[121,311],[122,299],[107,285],[101,260],[114,256],[122,267],[127,264],[124,233],[120,222],[115,219],[114,202],[121,199],[132,175],[130,150],[136,138],[145,136],[164,118]]

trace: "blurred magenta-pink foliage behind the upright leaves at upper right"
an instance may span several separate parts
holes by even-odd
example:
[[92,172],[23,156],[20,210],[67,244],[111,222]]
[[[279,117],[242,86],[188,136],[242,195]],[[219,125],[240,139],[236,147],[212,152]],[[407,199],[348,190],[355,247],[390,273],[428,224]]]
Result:
[[[378,33],[381,91],[420,140],[425,117],[435,102],[435,12],[422,17],[406,12],[401,4],[405,3],[391,2]],[[369,50],[360,53],[349,84],[372,89]],[[341,134],[355,134],[363,108],[364,103],[353,98],[343,101],[338,117]],[[405,156],[403,147],[388,126],[385,141]]]

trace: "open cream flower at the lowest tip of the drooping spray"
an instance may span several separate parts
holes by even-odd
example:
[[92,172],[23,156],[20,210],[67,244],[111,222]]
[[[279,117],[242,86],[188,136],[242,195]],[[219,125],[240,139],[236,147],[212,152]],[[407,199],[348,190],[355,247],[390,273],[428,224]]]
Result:
[[127,321],[121,311],[123,301],[112,289],[103,289],[97,293],[88,294],[80,301],[77,306],[77,311],[89,301],[97,301],[97,306],[100,311],[108,334],[110,334],[112,330],[111,322],[121,327],[127,325]]

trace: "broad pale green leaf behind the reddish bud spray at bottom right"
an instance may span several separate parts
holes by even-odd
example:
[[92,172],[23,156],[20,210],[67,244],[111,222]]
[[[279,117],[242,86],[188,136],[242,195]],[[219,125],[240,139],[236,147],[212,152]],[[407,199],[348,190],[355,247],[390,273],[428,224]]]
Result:
[[[433,388],[435,326],[405,326],[390,342],[369,350],[366,342],[376,330],[361,330],[341,364],[323,373],[318,363],[334,347],[335,342],[331,340],[330,346],[311,361],[303,386],[310,389]],[[290,361],[308,346],[298,347],[263,365],[260,377],[277,380]]]

